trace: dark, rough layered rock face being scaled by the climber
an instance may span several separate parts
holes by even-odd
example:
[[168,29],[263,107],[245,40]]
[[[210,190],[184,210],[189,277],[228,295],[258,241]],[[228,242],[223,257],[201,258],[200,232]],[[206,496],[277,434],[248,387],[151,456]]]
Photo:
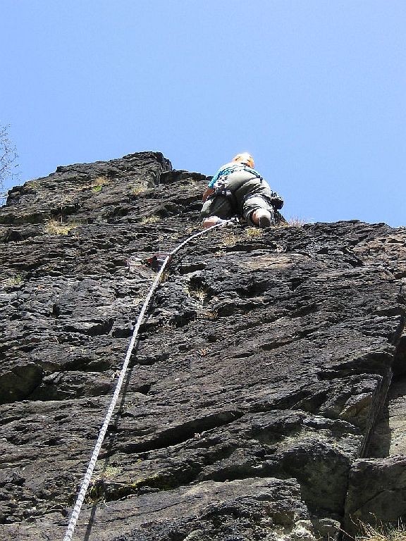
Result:
[[[156,276],[142,261],[199,230],[206,182],[145,152],[59,167],[0,209],[1,540],[62,539]],[[74,539],[316,540],[367,520],[365,475],[402,484],[373,435],[403,377],[405,280],[406,230],[384,224],[192,241],[142,325]]]

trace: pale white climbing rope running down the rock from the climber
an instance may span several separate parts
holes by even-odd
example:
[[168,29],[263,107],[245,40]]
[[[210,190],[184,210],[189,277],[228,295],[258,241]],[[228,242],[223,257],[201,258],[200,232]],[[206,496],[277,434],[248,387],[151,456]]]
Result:
[[85,496],[87,492],[87,488],[90,484],[90,478],[92,477],[92,473],[94,470],[94,466],[96,466],[97,458],[99,456],[99,452],[101,449],[101,445],[103,444],[104,437],[107,432],[107,428],[109,427],[109,423],[111,420],[111,416],[113,415],[114,408],[116,407],[117,401],[118,401],[118,395],[120,394],[121,387],[123,385],[123,381],[125,378],[125,373],[127,372],[128,364],[130,363],[130,357],[133,353],[133,349],[135,346],[135,341],[137,340],[138,330],[140,330],[140,326],[142,323],[142,320],[144,318],[145,311],[147,311],[147,307],[149,305],[149,301],[152,299],[152,295],[154,294],[154,291],[156,290],[156,287],[159,285],[159,281],[161,280],[161,276],[164,273],[164,270],[166,266],[168,265],[169,261],[171,261],[172,257],[180,250],[182,249],[185,244],[190,242],[192,239],[195,239],[199,237],[200,235],[204,235],[204,233],[207,233],[208,231],[224,227],[226,223],[217,223],[216,225],[212,225],[211,228],[204,229],[202,231],[199,231],[192,235],[191,237],[188,237],[185,241],[181,242],[173,251],[171,251],[168,256],[166,256],[164,263],[162,263],[161,268],[159,269],[159,273],[156,275],[156,278],[154,280],[154,283],[151,286],[151,289],[149,290],[149,293],[147,294],[147,298],[144,300],[144,304],[142,305],[142,309],[140,311],[140,315],[138,316],[137,323],[135,324],[133,335],[130,340],[130,344],[128,346],[127,354],[125,355],[123,367],[121,368],[120,375],[118,377],[118,381],[116,384],[116,389],[114,390],[113,397],[111,399],[111,403],[109,406],[109,409],[106,413],[106,418],[104,419],[103,425],[101,425],[100,431],[99,431],[99,437],[97,438],[97,442],[94,446],[92,456],[90,458],[89,466],[87,466],[87,471],[85,473],[85,477],[82,480],[82,485],[80,486],[80,491],[78,494],[78,498],[76,499],[75,506],[73,508],[72,514],[70,516],[70,520],[68,523],[68,527],[66,528],[66,534],[65,537],[63,537],[63,541],[72,541],[73,533],[75,531],[75,526],[79,518],[80,509],[82,509],[83,502],[85,501]]

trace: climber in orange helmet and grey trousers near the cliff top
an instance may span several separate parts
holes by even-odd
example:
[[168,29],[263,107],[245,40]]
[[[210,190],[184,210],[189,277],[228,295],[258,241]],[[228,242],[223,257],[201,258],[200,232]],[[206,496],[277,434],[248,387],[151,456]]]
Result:
[[236,217],[235,220],[268,228],[275,224],[275,211],[282,206],[283,199],[254,169],[252,156],[242,152],[222,166],[207,185],[203,194],[202,226],[226,224]]

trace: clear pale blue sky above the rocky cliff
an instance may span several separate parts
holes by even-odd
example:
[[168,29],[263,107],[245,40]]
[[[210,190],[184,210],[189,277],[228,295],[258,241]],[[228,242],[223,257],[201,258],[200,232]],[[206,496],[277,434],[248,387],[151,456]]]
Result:
[[158,150],[240,151],[286,218],[406,225],[404,0],[0,0],[20,182]]

